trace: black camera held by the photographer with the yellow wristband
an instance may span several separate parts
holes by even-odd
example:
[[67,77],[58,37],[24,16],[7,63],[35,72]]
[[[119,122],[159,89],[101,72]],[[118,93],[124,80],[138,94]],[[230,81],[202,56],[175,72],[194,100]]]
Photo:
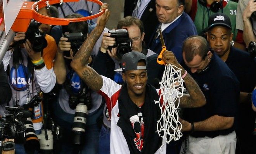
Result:
[[18,41],[18,43],[25,43],[26,39],[30,41],[35,52],[42,52],[45,47],[47,47],[47,41],[45,39],[44,33],[40,33],[39,26],[40,22],[31,20],[28,30],[26,31],[25,39]]

